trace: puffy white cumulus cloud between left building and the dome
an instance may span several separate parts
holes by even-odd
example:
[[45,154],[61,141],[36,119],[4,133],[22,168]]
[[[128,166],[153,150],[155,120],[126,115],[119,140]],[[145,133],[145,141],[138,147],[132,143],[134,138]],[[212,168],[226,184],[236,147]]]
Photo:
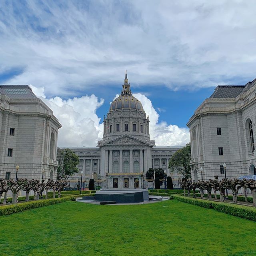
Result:
[[92,95],[63,100],[60,97],[47,99],[44,88],[30,85],[34,94],[49,106],[54,116],[62,124],[58,134],[58,146],[96,146],[102,138],[103,125],[96,114],[96,109],[102,106],[103,99]]

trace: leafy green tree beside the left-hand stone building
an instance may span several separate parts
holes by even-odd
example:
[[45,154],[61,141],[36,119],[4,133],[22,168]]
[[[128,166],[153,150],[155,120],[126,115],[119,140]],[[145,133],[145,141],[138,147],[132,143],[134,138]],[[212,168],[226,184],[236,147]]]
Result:
[[78,173],[78,156],[69,148],[57,148],[57,180],[64,181],[72,176],[74,173]]

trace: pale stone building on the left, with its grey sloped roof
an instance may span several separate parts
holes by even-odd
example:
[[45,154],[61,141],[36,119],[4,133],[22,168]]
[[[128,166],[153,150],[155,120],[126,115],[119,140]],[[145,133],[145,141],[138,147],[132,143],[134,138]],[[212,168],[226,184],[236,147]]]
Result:
[[0,177],[56,178],[58,129],[52,110],[27,85],[0,86]]

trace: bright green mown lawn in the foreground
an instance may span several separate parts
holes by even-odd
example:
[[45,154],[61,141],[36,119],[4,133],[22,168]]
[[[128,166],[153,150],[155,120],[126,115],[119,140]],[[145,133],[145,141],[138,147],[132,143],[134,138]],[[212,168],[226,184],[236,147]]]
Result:
[[168,200],[64,202],[0,217],[0,255],[256,255],[256,222]]

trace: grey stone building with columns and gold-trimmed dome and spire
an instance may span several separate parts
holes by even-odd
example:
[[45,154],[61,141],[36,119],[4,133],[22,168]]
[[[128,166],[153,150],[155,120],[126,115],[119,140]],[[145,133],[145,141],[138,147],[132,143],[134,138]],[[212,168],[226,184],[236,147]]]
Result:
[[[79,170],[83,170],[86,183],[94,177],[102,184],[108,172],[109,188],[140,188],[148,168],[166,169],[172,154],[181,147],[156,147],[150,140],[149,117],[141,102],[130,90],[127,74],[122,92],[110,105],[104,116],[104,132],[97,147],[70,149],[80,158]],[[178,175],[171,174],[178,186]],[[76,180],[79,174],[71,178]],[[145,184],[143,185],[145,187]]]

